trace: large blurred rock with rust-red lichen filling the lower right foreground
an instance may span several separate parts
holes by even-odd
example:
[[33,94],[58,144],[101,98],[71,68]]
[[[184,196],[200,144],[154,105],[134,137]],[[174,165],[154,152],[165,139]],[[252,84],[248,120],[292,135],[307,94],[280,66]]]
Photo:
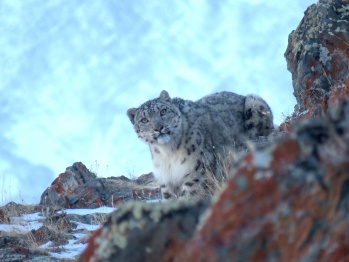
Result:
[[246,155],[174,261],[348,261],[349,102]]

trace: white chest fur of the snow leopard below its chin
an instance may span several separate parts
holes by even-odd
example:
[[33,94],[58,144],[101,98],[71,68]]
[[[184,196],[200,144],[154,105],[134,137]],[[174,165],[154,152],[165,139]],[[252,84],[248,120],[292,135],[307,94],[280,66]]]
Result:
[[196,159],[185,148],[172,151],[167,147],[153,147],[154,175],[160,184],[179,184],[181,179],[193,172]]

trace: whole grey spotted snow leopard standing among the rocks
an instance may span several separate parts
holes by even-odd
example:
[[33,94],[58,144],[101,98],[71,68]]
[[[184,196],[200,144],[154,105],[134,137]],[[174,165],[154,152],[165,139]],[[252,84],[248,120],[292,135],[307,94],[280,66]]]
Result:
[[127,115],[149,145],[162,201],[211,196],[210,176],[223,179],[220,159],[274,128],[271,109],[261,97],[228,91],[194,102],[171,98],[163,90]]

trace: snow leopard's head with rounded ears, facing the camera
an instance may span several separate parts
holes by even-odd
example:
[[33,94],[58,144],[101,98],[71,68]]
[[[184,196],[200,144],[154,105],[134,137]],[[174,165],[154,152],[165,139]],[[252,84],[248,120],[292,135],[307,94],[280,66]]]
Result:
[[180,136],[181,113],[165,90],[158,98],[130,108],[127,115],[138,137],[148,144],[167,144]]

